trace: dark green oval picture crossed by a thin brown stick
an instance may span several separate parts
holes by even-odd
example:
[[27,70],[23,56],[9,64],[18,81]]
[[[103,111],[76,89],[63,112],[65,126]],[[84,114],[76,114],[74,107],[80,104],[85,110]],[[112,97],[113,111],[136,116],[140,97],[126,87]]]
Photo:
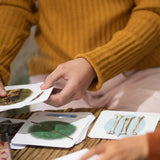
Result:
[[65,136],[60,135],[58,133],[52,132],[52,130],[57,131],[66,136],[70,136],[76,130],[76,126],[62,122],[62,121],[44,121],[39,123],[41,126],[44,126],[48,129],[45,129],[38,125],[33,125],[29,127],[29,133],[35,137],[40,139],[61,139],[65,138]]

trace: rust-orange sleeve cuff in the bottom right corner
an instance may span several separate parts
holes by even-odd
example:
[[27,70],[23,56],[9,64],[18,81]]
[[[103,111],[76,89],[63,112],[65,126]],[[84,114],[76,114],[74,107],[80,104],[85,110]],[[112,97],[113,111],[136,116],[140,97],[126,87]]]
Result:
[[153,133],[147,134],[148,145],[149,145],[149,160],[159,160],[160,159],[160,130]]

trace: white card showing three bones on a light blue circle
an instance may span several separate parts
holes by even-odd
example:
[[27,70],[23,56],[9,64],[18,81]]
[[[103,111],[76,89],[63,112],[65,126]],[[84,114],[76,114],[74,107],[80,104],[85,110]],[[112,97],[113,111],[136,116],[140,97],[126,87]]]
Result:
[[158,113],[102,111],[89,133],[90,138],[120,139],[153,132]]

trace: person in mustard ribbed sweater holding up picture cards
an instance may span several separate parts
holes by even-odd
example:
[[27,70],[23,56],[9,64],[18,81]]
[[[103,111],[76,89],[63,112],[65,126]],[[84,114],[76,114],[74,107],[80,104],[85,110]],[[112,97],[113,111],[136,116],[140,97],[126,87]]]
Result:
[[[59,85],[60,79],[65,81],[61,91],[47,101],[53,106],[83,99],[89,106],[115,109],[117,104],[125,106],[115,100],[123,95],[115,91],[116,86],[135,74],[148,73],[149,68],[154,78],[155,72],[160,76],[160,0],[0,0],[0,17],[1,96],[6,95],[10,63],[33,25],[37,25],[39,50],[28,62],[31,79],[45,77],[42,89]],[[108,82],[117,76],[119,81],[110,88]],[[151,90],[160,88],[157,79],[155,84]],[[138,88],[132,86],[130,91]],[[105,90],[99,93],[101,87]],[[138,97],[133,102],[141,97],[134,95]],[[135,104],[130,106],[132,110]]]

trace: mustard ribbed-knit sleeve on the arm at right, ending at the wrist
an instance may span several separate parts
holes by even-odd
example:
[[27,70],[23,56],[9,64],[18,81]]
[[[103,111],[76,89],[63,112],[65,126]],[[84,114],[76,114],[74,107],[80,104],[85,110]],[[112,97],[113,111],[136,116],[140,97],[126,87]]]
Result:
[[97,74],[90,90],[97,90],[117,74],[134,69],[159,44],[160,0],[134,0],[134,3],[126,27],[116,32],[111,41],[76,56],[87,59]]

